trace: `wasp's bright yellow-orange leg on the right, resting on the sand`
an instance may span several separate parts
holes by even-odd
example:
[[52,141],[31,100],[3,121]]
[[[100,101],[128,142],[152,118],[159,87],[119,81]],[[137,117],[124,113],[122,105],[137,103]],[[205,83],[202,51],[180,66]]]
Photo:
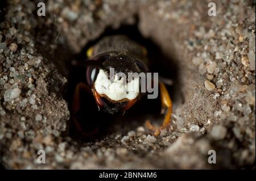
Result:
[[146,121],[146,127],[154,132],[155,136],[158,136],[161,133],[161,130],[166,128],[171,122],[171,115],[172,115],[172,100],[170,95],[166,89],[166,86],[162,82],[159,83],[160,87],[160,96],[162,102],[162,110],[167,108],[166,116],[164,117],[164,121],[161,127],[156,128],[154,127],[149,120]]

